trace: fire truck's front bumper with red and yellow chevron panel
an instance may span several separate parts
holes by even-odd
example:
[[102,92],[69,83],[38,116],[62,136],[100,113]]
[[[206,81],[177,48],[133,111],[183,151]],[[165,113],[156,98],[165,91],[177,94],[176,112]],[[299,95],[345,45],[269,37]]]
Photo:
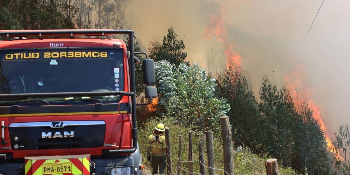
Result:
[[26,157],[0,160],[0,175],[134,175],[142,174],[131,156],[92,159],[89,155]]

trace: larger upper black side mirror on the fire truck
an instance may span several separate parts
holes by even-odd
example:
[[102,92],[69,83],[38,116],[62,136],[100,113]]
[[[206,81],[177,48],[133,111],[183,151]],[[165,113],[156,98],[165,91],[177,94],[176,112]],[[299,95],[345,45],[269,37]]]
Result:
[[142,61],[142,73],[144,76],[145,84],[155,84],[155,69],[153,59],[146,58]]

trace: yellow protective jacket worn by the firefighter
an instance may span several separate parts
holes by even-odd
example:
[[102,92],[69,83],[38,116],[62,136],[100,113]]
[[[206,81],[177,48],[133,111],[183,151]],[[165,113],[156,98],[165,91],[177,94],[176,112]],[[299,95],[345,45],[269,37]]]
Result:
[[151,151],[152,151],[152,155],[155,155],[155,156],[166,155],[164,135],[158,135],[158,134],[149,135],[148,144],[147,144],[147,157],[151,156]]

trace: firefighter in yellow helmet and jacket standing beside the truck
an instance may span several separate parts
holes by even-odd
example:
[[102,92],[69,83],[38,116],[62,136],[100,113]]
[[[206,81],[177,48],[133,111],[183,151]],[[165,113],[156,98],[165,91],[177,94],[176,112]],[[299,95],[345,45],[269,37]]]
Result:
[[[166,168],[166,153],[165,153],[165,131],[163,124],[158,124],[154,127],[155,130],[148,137],[147,145],[147,160],[151,162],[152,174],[165,174]],[[151,157],[152,152],[152,157]]]

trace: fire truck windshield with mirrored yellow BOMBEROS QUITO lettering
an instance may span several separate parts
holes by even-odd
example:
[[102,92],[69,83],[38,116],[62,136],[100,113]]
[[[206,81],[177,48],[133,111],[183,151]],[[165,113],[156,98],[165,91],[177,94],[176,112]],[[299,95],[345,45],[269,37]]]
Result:
[[2,94],[123,91],[123,82],[121,49],[0,51]]

